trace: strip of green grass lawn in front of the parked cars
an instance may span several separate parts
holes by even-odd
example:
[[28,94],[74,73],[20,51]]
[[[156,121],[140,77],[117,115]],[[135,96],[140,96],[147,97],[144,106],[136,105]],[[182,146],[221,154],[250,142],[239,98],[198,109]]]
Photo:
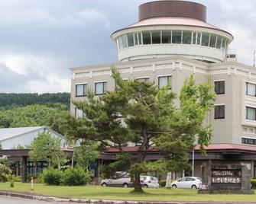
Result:
[[[29,192],[30,183],[15,183],[15,188],[10,183],[0,183],[0,190]],[[88,199],[136,199],[155,201],[251,201],[255,202],[254,195],[199,195],[196,190],[181,189],[144,189],[144,193],[134,193],[132,188],[102,187],[102,186],[47,186],[42,183],[34,184],[33,193],[49,196],[76,197]]]

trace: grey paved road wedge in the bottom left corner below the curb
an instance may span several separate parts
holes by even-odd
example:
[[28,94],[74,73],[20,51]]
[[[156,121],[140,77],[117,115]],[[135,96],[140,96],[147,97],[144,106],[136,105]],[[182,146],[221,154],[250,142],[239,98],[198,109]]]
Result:
[[[11,196],[0,196],[0,204],[64,204],[68,202],[45,202],[37,199],[21,199]],[[69,202],[70,203],[70,202]]]

